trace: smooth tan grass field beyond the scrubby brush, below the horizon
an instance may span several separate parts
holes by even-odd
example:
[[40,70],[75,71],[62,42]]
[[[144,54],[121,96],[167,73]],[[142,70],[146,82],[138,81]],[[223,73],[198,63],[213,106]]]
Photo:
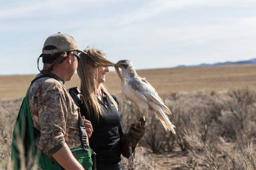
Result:
[[[227,65],[209,67],[180,67],[138,70],[160,94],[205,90],[222,91],[230,87],[252,86],[256,89],[256,65]],[[22,98],[35,75],[0,76],[0,99]],[[121,93],[120,80],[115,72],[107,75],[106,86],[114,94]],[[79,86],[74,76],[67,87]]]

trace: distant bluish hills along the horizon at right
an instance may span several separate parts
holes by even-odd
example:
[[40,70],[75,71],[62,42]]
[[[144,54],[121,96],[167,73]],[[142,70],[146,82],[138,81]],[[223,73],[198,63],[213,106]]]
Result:
[[240,64],[255,64],[256,58],[244,61],[226,61],[226,62],[218,62],[214,64],[202,63],[199,65],[179,65],[177,67],[186,67],[186,66],[213,66],[213,65],[240,65]]

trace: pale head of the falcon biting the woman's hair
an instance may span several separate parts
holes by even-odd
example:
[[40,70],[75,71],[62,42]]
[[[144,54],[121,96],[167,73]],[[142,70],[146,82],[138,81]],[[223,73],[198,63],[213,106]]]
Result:
[[[122,75],[120,73],[119,68],[122,69]],[[129,76],[132,72],[135,72],[135,69],[133,67],[133,64],[130,60],[120,60],[115,64],[116,72],[119,76],[119,78],[124,81],[127,76]]]

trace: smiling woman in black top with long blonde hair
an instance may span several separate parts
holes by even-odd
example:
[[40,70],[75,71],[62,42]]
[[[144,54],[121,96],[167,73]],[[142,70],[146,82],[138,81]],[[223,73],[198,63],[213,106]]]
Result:
[[102,84],[109,72],[108,66],[114,66],[114,63],[100,50],[87,48],[85,52],[89,57],[81,54],[77,72],[84,98],[81,115],[93,126],[90,147],[96,153],[97,169],[121,169],[120,138],[124,134],[121,117],[115,96],[110,95]]

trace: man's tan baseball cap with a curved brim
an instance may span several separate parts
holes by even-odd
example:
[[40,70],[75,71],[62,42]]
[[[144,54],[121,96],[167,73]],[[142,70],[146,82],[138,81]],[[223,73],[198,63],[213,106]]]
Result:
[[[54,49],[46,50],[46,46],[53,46]],[[66,33],[57,33],[49,36],[44,46],[42,47],[42,54],[54,54],[60,52],[70,52],[70,51],[77,51],[78,53],[85,53],[81,50],[78,50],[76,40],[66,34]]]

